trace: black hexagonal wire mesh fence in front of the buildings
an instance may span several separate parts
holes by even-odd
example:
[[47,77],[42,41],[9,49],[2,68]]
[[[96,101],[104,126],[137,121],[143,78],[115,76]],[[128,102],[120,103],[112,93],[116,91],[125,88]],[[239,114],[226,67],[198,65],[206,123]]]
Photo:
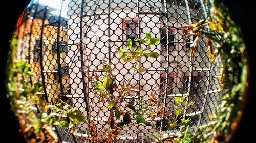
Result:
[[[99,121],[97,128],[101,129],[110,114],[106,108],[108,102],[98,104],[99,99],[94,97],[85,74],[86,66],[94,69],[102,66],[103,60],[108,61],[114,68],[117,84],[122,85],[132,74],[131,63],[120,62],[116,50],[125,48],[129,38],[135,40],[133,44],[139,44],[137,38],[144,39],[149,32],[161,38],[160,43],[150,49],[160,56],[140,60],[140,66],[148,70],[135,74],[131,87],[139,89],[139,94],[131,92],[122,108],[127,103],[139,107],[138,101],[142,98],[148,102],[152,87],[160,84],[155,94],[159,98],[160,93],[166,93],[162,97],[165,116],[173,121],[174,97],[189,95],[182,105],[190,101],[194,104],[183,110],[180,119],[190,117],[193,125],[198,126],[215,110],[219,99],[217,77],[221,61],[217,58],[215,65],[210,64],[203,36],[191,56],[190,44],[195,37],[185,38],[186,31],[179,27],[208,17],[210,8],[211,1],[205,0],[31,1],[17,23],[15,59],[32,65],[31,71],[36,77],[31,81],[42,80],[47,102],[55,104],[54,97],[59,97],[84,115],[90,113],[92,120]],[[156,112],[159,109],[153,108]],[[156,118],[154,124],[165,134],[179,132],[179,129],[167,131],[166,122]],[[59,129],[59,132],[65,131]],[[86,124],[79,124],[75,132],[87,134]],[[102,128],[100,134],[104,132]],[[154,139],[148,132],[154,129],[144,125],[124,127],[116,141],[151,142]]]

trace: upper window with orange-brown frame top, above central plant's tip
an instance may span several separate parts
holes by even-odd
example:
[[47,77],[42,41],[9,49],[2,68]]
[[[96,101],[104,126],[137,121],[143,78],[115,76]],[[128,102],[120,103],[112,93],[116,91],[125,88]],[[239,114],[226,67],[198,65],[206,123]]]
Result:
[[123,30],[126,37],[124,39],[131,39],[133,41],[133,46],[136,46],[136,42],[134,41],[137,38],[138,34],[138,26],[137,26],[138,20],[136,18],[125,18],[123,20]]

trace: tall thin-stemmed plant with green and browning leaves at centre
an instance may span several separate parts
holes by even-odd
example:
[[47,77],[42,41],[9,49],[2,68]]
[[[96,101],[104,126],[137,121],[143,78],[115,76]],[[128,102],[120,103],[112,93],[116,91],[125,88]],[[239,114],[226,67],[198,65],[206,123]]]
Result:
[[[150,116],[156,116],[155,112],[150,111],[151,106],[149,104],[145,104],[144,101],[140,101],[140,104],[142,107],[136,108],[135,106],[128,104],[126,105],[127,108],[130,108],[131,110],[123,110],[121,108],[122,103],[124,102],[124,98],[128,95],[129,92],[137,92],[139,94],[139,90],[136,88],[131,87],[130,83],[134,78],[134,75],[136,72],[145,72],[147,71],[146,68],[139,67],[139,61],[142,57],[144,58],[157,58],[159,56],[159,53],[150,51],[151,46],[157,45],[160,41],[159,38],[153,38],[150,33],[146,33],[146,39],[137,39],[144,45],[146,45],[146,48],[143,50],[143,48],[140,45],[133,46],[133,42],[131,39],[127,40],[127,46],[125,49],[119,49],[117,50],[118,54],[122,54],[120,56],[120,62],[124,63],[132,63],[131,69],[133,70],[131,77],[129,77],[126,80],[122,81],[122,85],[118,87],[118,84],[116,83],[115,75],[113,75],[113,68],[111,66],[111,63],[107,63],[106,61],[102,61],[100,64],[102,64],[102,68],[99,68],[98,65],[92,72],[92,74],[89,74],[87,72],[87,76],[90,77],[89,81],[92,83],[93,92],[95,93],[95,97],[98,97],[98,104],[105,103],[108,101],[108,109],[110,111],[110,115],[108,117],[108,121],[106,122],[104,126],[109,125],[109,130],[105,133],[106,135],[109,135],[109,132],[112,132],[113,130],[120,131],[121,128],[125,126],[130,126],[133,124],[144,124],[147,126],[152,126],[150,121],[147,120],[146,117]],[[90,57],[90,56],[88,56]],[[90,61],[90,58],[89,58]],[[89,65],[89,64],[88,64]],[[87,69],[90,69],[90,66],[87,66]],[[101,71],[102,75],[97,75],[96,71]],[[117,94],[113,94],[114,91],[117,92]],[[87,99],[89,101],[89,97]],[[89,108],[91,108],[91,105],[89,105]],[[101,110],[99,109],[99,112],[97,112],[97,117]],[[120,119],[121,122],[116,123],[114,120],[114,117],[116,119]],[[133,119],[136,119],[135,122],[133,122]],[[90,119],[89,119],[90,120]],[[113,124],[114,122],[114,124]],[[95,127],[91,129],[91,141],[96,141],[98,139],[97,134],[102,129],[97,130],[98,122],[96,123]],[[95,129],[96,128],[96,129]],[[93,130],[93,131],[92,131]],[[93,132],[93,133],[92,133]],[[106,137],[101,137],[99,140],[105,140]],[[112,137],[112,139],[114,139]],[[112,141],[110,138],[108,141]],[[100,142],[100,141],[99,141]]]

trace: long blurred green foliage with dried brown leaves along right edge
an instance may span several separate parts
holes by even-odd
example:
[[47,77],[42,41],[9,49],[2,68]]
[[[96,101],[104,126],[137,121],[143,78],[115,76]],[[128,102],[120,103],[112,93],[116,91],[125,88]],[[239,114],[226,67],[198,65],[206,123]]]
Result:
[[[215,0],[212,9],[214,14],[211,15],[211,20],[203,19],[198,23],[180,27],[180,29],[187,31],[186,37],[196,36],[190,46],[192,56],[198,38],[205,36],[211,63],[215,64],[217,57],[221,59],[222,67],[219,68],[222,70],[218,77],[222,83],[221,100],[207,124],[198,127],[197,132],[194,133],[189,132],[189,126],[186,126],[186,130],[181,133],[182,137],[174,138],[175,142],[223,141],[223,139],[228,139],[226,137],[229,136],[241,116],[247,68],[240,30],[231,21],[228,10],[222,3]],[[177,113],[179,112],[178,110]]]

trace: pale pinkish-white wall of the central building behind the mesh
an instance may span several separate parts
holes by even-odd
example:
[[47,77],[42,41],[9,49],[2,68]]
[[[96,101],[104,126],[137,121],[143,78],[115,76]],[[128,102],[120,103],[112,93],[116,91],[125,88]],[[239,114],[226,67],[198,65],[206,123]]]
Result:
[[[92,9],[92,8],[90,8]],[[172,9],[174,10],[174,9]],[[169,10],[170,12],[172,10]],[[144,9],[146,11],[146,9]],[[182,11],[182,9],[178,9],[175,11],[175,14],[178,15],[178,13],[186,13],[186,11]],[[69,30],[67,32],[67,35],[69,36],[68,45],[70,46],[70,51],[68,52],[68,57],[70,59],[73,59],[76,62],[70,62],[69,67],[73,67],[69,70],[70,73],[70,84],[71,84],[71,95],[75,96],[76,98],[73,98],[73,103],[75,106],[79,107],[79,109],[84,109],[86,105],[84,104],[84,93],[83,93],[83,85],[82,85],[82,70],[84,72],[87,71],[85,67],[81,67],[81,62],[84,64],[84,66],[90,65],[90,70],[93,70],[96,68],[96,65],[98,65],[103,60],[106,61],[112,61],[113,67],[115,67],[115,70],[113,71],[113,74],[116,75],[117,83],[118,85],[122,85],[121,79],[129,79],[132,73],[132,64],[131,63],[122,63],[119,61],[120,54],[116,53],[116,49],[125,49],[126,48],[126,41],[127,35],[125,35],[125,29],[124,29],[124,22],[127,19],[132,19],[132,21],[137,21],[137,28],[141,32],[137,34],[137,38],[145,39],[145,36],[143,33],[150,32],[153,37],[161,37],[160,31],[164,27],[163,23],[167,23],[169,25],[169,28],[174,29],[174,35],[175,35],[175,48],[172,50],[167,50],[161,47],[161,44],[158,44],[157,46],[151,46],[151,51],[158,52],[160,56],[155,58],[142,58],[140,63],[141,66],[144,68],[147,68],[148,71],[142,74],[135,74],[134,79],[131,82],[132,87],[138,87],[141,89],[140,96],[139,97],[131,97],[130,95],[127,96],[126,101],[123,103],[122,109],[124,109],[125,105],[128,104],[128,101],[131,100],[141,100],[142,98],[146,101],[149,100],[149,95],[151,94],[151,89],[154,87],[154,85],[160,84],[160,78],[162,75],[167,74],[167,76],[175,75],[173,77],[173,90],[172,95],[166,95],[165,101],[166,102],[166,108],[165,111],[167,112],[167,115],[172,118],[173,116],[173,108],[171,108],[174,104],[174,98],[175,96],[181,96],[181,88],[183,87],[183,77],[188,76],[191,77],[192,74],[199,74],[199,76],[204,77],[204,80],[200,80],[200,86],[201,89],[198,91],[199,95],[193,95],[189,97],[189,100],[196,100],[201,98],[203,100],[204,93],[207,91],[206,85],[207,82],[207,76],[208,71],[201,72],[203,68],[209,67],[208,59],[207,59],[207,48],[205,47],[205,39],[200,38],[200,43],[198,46],[198,50],[195,52],[193,58],[190,56],[190,50],[189,48],[184,48],[186,46],[186,39],[184,38],[184,31],[178,30],[179,27],[188,25],[188,19],[184,15],[181,16],[181,18],[175,19],[175,17],[172,17],[170,19],[167,19],[166,17],[162,17],[161,15],[148,15],[148,14],[140,14],[138,15],[136,10],[131,12],[131,9],[113,9],[113,11],[108,15],[104,14],[105,11],[96,11],[97,14],[99,14],[100,18],[97,19],[97,17],[94,16],[84,16],[82,18],[82,30],[80,29],[80,21],[81,17],[80,15],[73,14],[71,15],[68,25]],[[128,14],[129,13],[129,14]],[[90,11],[86,15],[90,15]],[[173,14],[173,15],[175,15]],[[108,17],[113,17],[113,19],[109,19]],[[96,21],[93,21],[92,19],[96,18]],[[164,19],[164,20],[163,20]],[[187,19],[187,20],[184,20]],[[168,21],[169,20],[169,21]],[[139,21],[139,22],[138,22]],[[167,22],[168,21],[168,22]],[[90,27],[88,29],[88,27]],[[82,31],[82,41],[80,40],[80,32]],[[81,54],[81,47],[80,43],[84,43],[83,46],[83,61],[80,61],[79,56]],[[191,41],[192,42],[192,41]],[[142,45],[142,48],[145,49],[145,46]],[[205,57],[206,56],[206,57]],[[88,60],[89,57],[91,58],[90,61]],[[206,59],[203,59],[202,57],[205,57]],[[193,62],[192,62],[193,61]],[[194,71],[192,68],[195,67]],[[102,67],[101,64],[99,64],[99,67]],[[196,70],[200,69],[199,71]],[[81,70],[82,69],[82,70]],[[167,71],[166,71],[167,70]],[[165,71],[165,72],[164,72]],[[90,71],[91,73],[91,71]],[[101,74],[101,73],[98,73]],[[206,79],[205,79],[206,78]],[[140,80],[141,79],[141,80]],[[91,109],[91,115],[92,117],[95,117],[98,112],[98,109],[104,110],[106,112],[99,113],[99,117],[97,120],[106,121],[107,117],[109,115],[108,108],[106,106],[108,103],[104,103],[105,106],[103,106],[103,103],[100,103],[99,105],[96,105],[95,103],[98,103],[98,98],[93,98],[94,93],[92,92],[92,86],[88,83],[87,78],[84,79],[86,81],[86,88],[88,90],[86,95],[89,95],[90,97],[90,103],[93,103],[91,106],[93,108]],[[139,81],[139,82],[138,82]],[[187,89],[189,90],[189,89]],[[189,91],[187,91],[189,92]],[[114,96],[117,95],[117,93],[114,93]],[[156,96],[158,97],[159,94],[156,93]],[[133,98],[133,99],[129,99]],[[93,101],[92,101],[93,99]],[[197,111],[200,111],[202,109],[202,100],[198,100],[198,104],[194,105],[194,109],[189,109],[184,112],[184,114],[194,113]],[[138,106],[138,104],[136,104]],[[157,107],[153,107],[157,110]],[[103,131],[102,131],[103,132]],[[143,131],[143,132],[147,132]]]

